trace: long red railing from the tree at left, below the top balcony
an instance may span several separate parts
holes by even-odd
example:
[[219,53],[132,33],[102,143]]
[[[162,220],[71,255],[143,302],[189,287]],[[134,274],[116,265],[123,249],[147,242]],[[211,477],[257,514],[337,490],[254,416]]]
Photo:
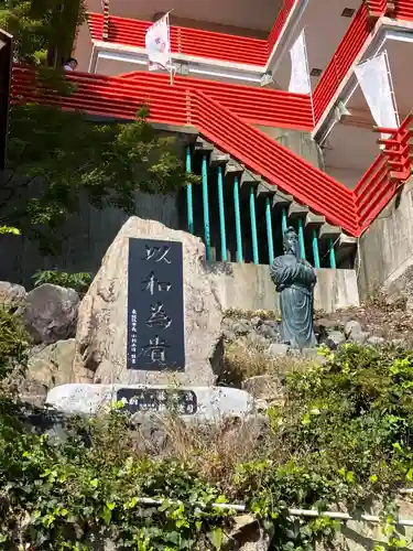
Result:
[[[187,77],[176,77],[171,86],[167,75],[148,72],[131,73],[123,77],[75,73],[67,74],[67,79],[76,84],[76,91],[68,98],[62,98],[64,108],[73,105],[73,108],[108,117],[133,119],[139,106],[150,102],[151,111],[155,112],[156,117],[162,110],[166,119],[169,115],[172,117],[170,121],[164,119],[165,121],[184,125],[186,94],[199,89],[230,108],[242,120],[254,125],[303,130],[311,130],[313,126],[311,102],[305,95]],[[33,73],[30,68],[14,67],[14,97],[33,97],[33,94],[39,91],[33,84]],[[170,106],[172,99],[177,101],[173,109]],[[61,98],[56,98],[56,101],[59,102]]]

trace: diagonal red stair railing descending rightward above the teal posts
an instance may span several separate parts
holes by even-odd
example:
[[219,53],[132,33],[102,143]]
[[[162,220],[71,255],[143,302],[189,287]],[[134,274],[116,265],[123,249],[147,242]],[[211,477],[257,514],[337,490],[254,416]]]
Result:
[[229,109],[194,90],[194,122],[199,132],[267,182],[323,213],[350,234],[357,233],[352,193],[264,132],[244,123]]

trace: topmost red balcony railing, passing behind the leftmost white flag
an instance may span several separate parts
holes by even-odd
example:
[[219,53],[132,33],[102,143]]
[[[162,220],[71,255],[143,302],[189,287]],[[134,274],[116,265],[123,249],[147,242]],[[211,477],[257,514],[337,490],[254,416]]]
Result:
[[[102,40],[104,17],[89,13],[88,19],[91,37]],[[145,33],[151,24],[110,15],[107,40],[116,44],[145,47]],[[265,65],[269,56],[265,40],[175,25],[171,26],[171,50],[174,53],[259,66]]]

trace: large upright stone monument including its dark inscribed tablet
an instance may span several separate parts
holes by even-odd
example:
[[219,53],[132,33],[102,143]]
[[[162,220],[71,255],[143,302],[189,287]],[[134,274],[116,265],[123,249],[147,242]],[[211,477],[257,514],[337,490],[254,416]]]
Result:
[[78,311],[72,382],[213,386],[222,311],[198,237],[131,217]]

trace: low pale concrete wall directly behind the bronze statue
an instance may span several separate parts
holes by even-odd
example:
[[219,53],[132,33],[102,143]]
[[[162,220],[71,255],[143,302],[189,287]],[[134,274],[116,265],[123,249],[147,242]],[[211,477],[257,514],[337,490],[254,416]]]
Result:
[[[268,266],[211,264],[217,294],[225,309],[279,310]],[[355,270],[317,270],[314,307],[325,312],[359,305]]]

